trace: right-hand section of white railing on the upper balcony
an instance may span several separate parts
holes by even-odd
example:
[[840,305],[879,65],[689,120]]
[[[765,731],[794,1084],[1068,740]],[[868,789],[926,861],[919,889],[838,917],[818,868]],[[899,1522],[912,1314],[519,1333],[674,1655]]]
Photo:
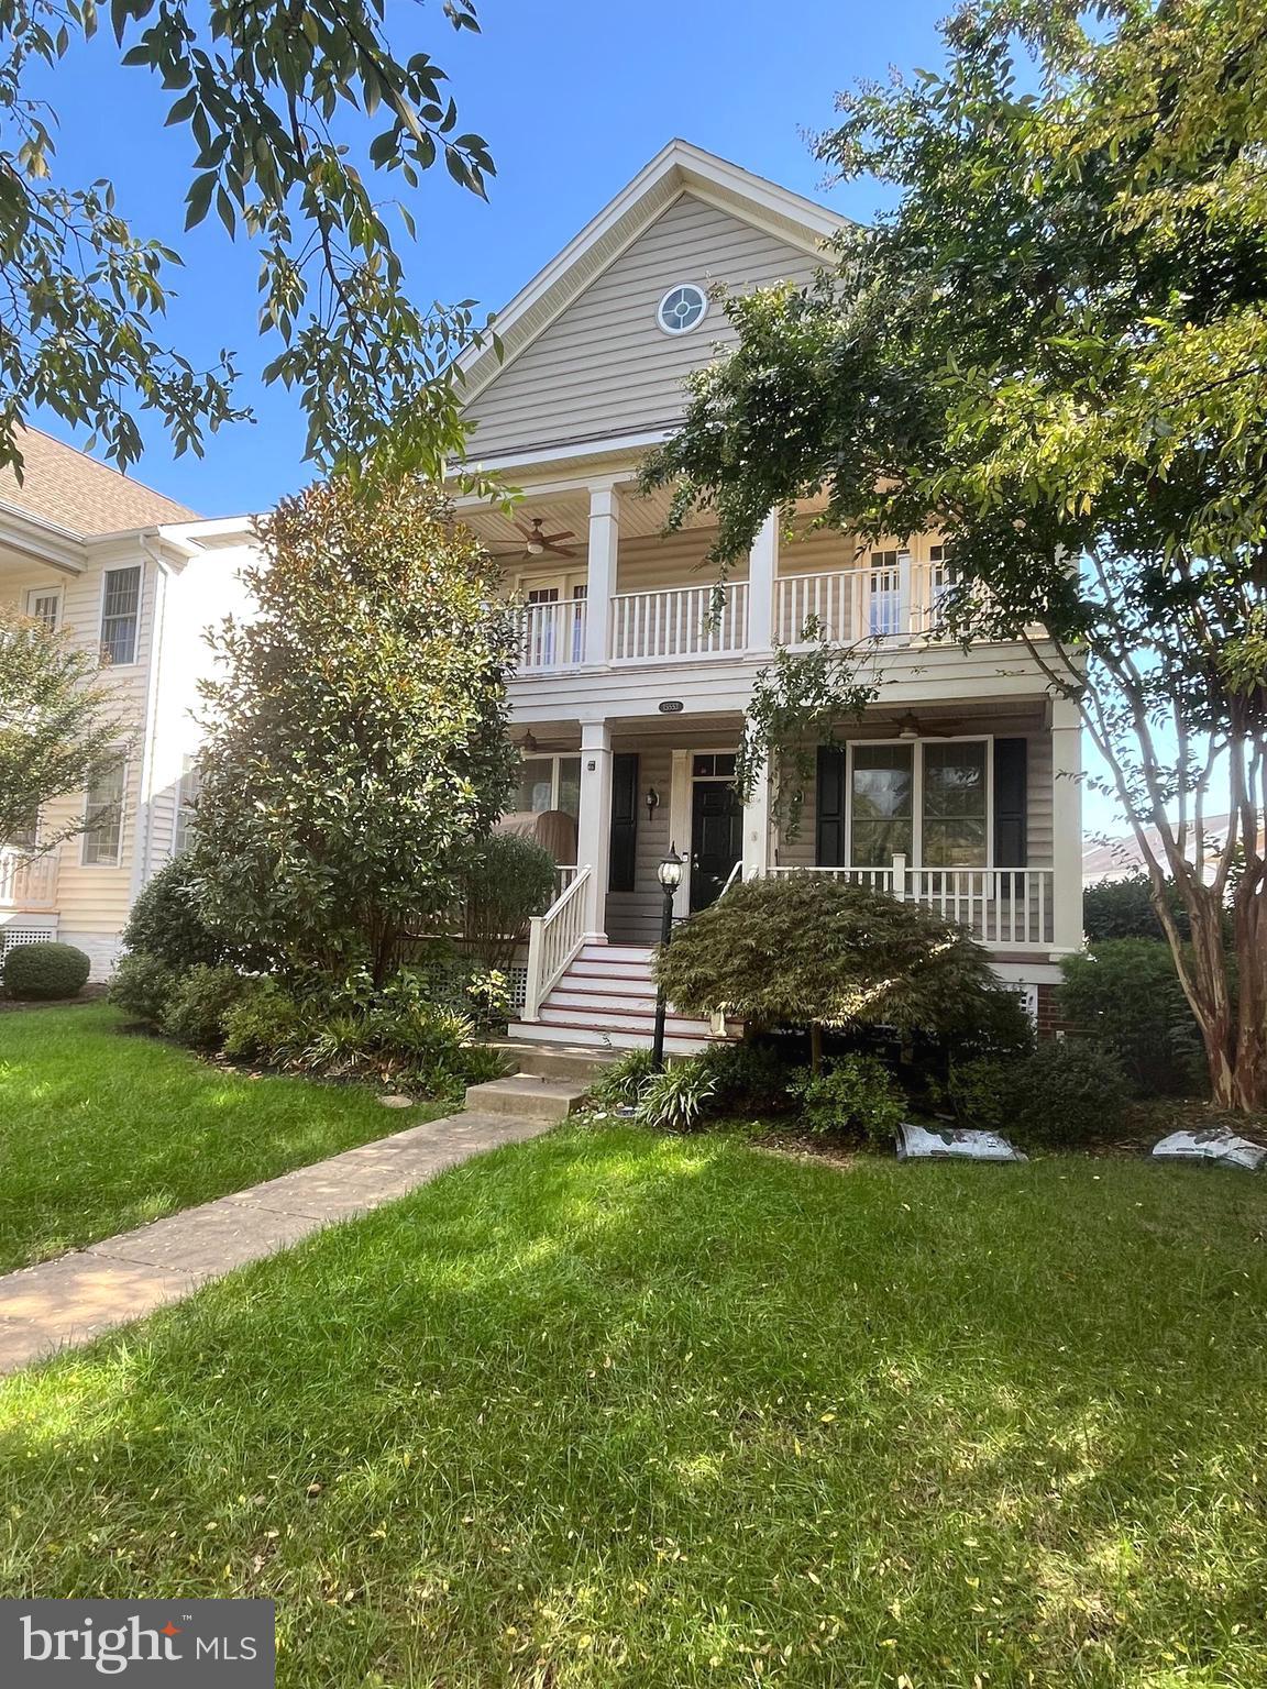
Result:
[[899,554],[885,568],[838,569],[831,574],[786,574],[775,583],[774,627],[780,645],[816,638],[909,644],[944,630],[944,603],[954,586],[946,562],[912,562]]

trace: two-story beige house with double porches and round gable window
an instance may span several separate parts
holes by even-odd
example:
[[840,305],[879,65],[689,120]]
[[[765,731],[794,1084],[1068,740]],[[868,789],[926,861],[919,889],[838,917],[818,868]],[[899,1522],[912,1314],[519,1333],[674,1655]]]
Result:
[[[681,421],[682,378],[735,338],[715,291],[809,280],[838,228],[676,140],[498,316],[503,355],[465,360],[470,459],[525,495],[512,517],[461,502],[525,601],[515,807],[576,824],[576,872],[520,980],[524,1034],[645,1039],[671,844],[688,858],[679,915],[738,872],[863,880],[971,927],[1039,1018],[1081,942],[1076,709],[1022,644],[938,638],[938,535],[862,551],[828,530],[787,540],[770,519],[713,613],[710,529],[664,537],[667,498],[635,490],[645,449]],[[865,723],[819,753],[789,838],[767,784],[740,807],[730,777],[753,676],[811,615],[875,637],[885,679]],[[671,1049],[708,1030],[674,1018]]]

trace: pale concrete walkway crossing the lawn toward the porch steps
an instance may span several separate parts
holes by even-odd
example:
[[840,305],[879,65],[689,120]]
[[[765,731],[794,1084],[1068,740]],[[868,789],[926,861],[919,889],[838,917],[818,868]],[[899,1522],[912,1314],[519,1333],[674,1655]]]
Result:
[[456,1162],[549,1130],[549,1118],[448,1115],[248,1191],[0,1277],[0,1373],[177,1302],[336,1219],[405,1196]]

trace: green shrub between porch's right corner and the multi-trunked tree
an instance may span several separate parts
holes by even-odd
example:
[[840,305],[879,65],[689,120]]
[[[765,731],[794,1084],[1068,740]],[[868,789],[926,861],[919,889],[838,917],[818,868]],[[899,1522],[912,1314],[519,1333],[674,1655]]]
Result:
[[1061,961],[1061,1015],[1118,1059],[1137,1096],[1204,1089],[1201,1034],[1169,944],[1105,939]]

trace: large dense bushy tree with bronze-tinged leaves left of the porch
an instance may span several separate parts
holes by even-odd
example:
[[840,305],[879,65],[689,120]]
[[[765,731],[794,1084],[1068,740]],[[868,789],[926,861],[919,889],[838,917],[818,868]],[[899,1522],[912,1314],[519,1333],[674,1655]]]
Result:
[[243,571],[255,613],[209,635],[191,882],[231,949],[382,983],[505,809],[517,647],[439,493],[363,495],[284,498]]

